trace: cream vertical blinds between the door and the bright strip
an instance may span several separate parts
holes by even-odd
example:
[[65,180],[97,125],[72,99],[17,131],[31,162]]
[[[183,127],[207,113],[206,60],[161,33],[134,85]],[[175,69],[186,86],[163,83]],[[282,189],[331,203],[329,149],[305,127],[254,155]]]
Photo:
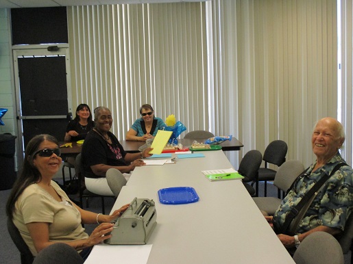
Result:
[[[125,138],[139,108],[208,129],[205,3],[68,7],[73,103],[109,107]],[[199,117],[199,118],[195,118]]]

